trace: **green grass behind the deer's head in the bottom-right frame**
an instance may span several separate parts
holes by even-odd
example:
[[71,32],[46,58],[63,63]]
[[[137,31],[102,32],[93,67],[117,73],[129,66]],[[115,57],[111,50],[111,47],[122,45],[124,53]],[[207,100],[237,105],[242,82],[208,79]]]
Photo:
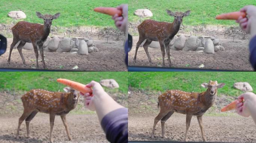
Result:
[[128,85],[135,90],[165,92],[178,89],[186,92],[203,92],[201,84],[217,80],[226,85],[218,90],[218,95],[238,96],[243,93],[234,89],[235,82],[248,82],[256,88],[254,72],[129,72]]

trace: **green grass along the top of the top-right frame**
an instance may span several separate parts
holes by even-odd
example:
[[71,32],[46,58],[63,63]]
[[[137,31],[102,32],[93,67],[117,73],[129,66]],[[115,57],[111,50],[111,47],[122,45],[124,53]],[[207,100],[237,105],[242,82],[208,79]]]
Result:
[[[191,10],[183,19],[183,25],[237,25],[234,20],[216,20],[221,13],[239,11],[243,6],[256,5],[256,0],[129,0],[129,22],[142,22],[145,19],[173,22],[173,17],[167,15],[166,9],[173,12]],[[134,15],[137,9],[149,9],[151,18],[138,18]]]

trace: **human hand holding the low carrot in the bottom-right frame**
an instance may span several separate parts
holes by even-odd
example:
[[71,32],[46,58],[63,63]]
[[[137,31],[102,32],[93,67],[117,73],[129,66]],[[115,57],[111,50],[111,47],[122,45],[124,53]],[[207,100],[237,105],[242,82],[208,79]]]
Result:
[[251,115],[250,108],[256,104],[256,95],[252,92],[246,92],[238,96],[238,99],[244,99],[244,102],[237,101],[236,110],[237,114],[249,117]]

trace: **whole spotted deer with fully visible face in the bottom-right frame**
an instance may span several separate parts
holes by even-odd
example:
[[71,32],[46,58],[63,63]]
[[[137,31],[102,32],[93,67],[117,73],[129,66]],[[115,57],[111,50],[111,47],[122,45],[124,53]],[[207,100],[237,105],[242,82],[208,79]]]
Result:
[[209,109],[215,102],[217,89],[222,88],[225,83],[217,83],[217,81],[209,81],[209,83],[202,83],[201,86],[207,88],[205,92],[184,92],[180,90],[168,90],[167,92],[159,95],[158,108],[160,112],[156,116],[151,138],[154,138],[156,124],[161,120],[162,137],[164,137],[164,124],[174,112],[186,114],[186,133],[185,142],[188,141],[188,129],[192,116],[196,116],[202,134],[202,139],[205,140],[202,115]]

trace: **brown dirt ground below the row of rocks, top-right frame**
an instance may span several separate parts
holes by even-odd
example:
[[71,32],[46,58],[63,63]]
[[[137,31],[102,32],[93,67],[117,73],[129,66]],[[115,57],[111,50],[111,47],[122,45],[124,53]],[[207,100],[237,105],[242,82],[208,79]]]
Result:
[[[129,66],[162,67],[162,53],[158,48],[148,49],[152,59],[151,63],[147,58],[143,47],[139,47],[136,63],[133,61],[138,36],[132,37],[132,49],[128,53]],[[214,70],[246,70],[252,71],[253,68],[249,61],[249,49],[247,39],[220,39],[224,51],[214,54],[197,53],[196,51],[177,51],[170,49],[171,63],[174,68],[199,69],[198,66],[204,64],[203,69]],[[186,66],[188,65],[189,66]],[[169,67],[167,55],[165,54],[165,67]]]

